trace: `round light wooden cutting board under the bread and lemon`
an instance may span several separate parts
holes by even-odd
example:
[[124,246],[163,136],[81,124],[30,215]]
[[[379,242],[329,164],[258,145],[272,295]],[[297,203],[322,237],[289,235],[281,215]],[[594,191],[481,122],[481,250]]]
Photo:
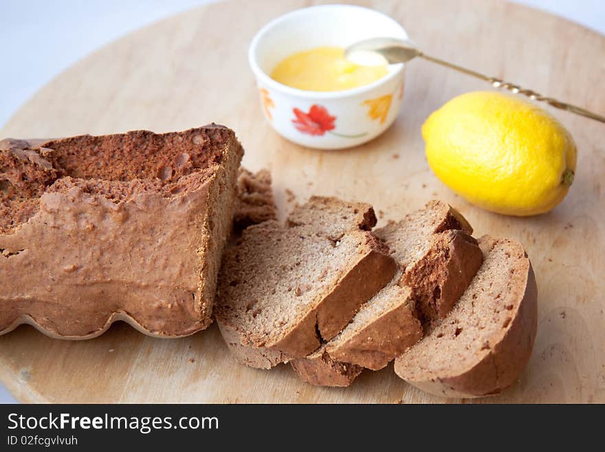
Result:
[[[536,270],[539,326],[527,371],[487,402],[605,402],[605,125],[553,110],[579,148],[575,184],[547,215],[512,218],[467,204],[430,172],[420,127],[431,111],[486,85],[423,61],[410,63],[401,115],[356,149],[315,151],[274,133],[261,115],[246,50],[270,19],[314,1],[232,1],[198,8],[126,36],[36,94],[1,137],[59,137],[131,129],[232,127],[244,164],[267,166],[281,215],[296,198],[371,202],[380,224],[439,197],[476,236],[514,237]],[[605,37],[500,0],[355,2],[401,21],[428,54],[605,112]],[[27,70],[44,70],[30,67]],[[384,214],[383,214],[384,212]],[[47,338],[21,326],[0,337],[0,378],[23,402],[443,402],[393,374],[366,371],[347,389],[301,383],[282,365],[238,365],[216,327],[161,340],[116,324],[91,341]]]

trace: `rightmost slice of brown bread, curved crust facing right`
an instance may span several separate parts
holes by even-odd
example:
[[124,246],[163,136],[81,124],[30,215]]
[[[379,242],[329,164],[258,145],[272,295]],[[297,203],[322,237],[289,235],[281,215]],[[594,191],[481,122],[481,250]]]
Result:
[[536,279],[517,241],[483,236],[483,265],[450,314],[395,360],[395,372],[447,397],[498,394],[525,368],[537,330]]

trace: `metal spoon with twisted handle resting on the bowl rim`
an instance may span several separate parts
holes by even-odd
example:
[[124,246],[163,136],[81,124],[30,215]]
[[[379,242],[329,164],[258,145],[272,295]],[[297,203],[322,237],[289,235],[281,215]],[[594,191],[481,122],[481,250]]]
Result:
[[425,60],[432,61],[438,65],[450,67],[450,69],[454,69],[458,72],[463,72],[463,74],[481,78],[481,80],[485,80],[493,87],[508,89],[514,94],[523,94],[524,96],[527,96],[533,100],[539,100],[540,102],[545,102],[549,105],[552,105],[555,108],[571,111],[572,113],[586,116],[586,118],[605,122],[605,116],[598,115],[582,107],[560,102],[559,100],[542,96],[542,94],[531,91],[531,89],[524,89],[518,85],[514,85],[514,83],[505,82],[504,80],[500,80],[496,77],[488,77],[472,71],[471,69],[466,69],[465,67],[448,63],[448,61],[443,61],[439,58],[434,58],[433,56],[423,54],[423,52],[418,50],[416,45],[410,41],[410,39],[366,39],[365,41],[360,41],[347,47],[344,54],[349,60],[353,61],[353,63],[366,66],[383,65],[386,63],[406,63],[413,58],[424,58]]

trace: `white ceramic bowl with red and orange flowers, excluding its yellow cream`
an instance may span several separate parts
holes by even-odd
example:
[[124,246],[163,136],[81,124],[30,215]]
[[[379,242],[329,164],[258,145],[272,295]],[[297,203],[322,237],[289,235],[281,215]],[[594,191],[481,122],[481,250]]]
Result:
[[404,65],[362,87],[305,91],[269,74],[286,56],[313,47],[347,47],[375,37],[406,39],[391,17],[359,6],[312,6],[284,14],[259,31],[248,50],[265,118],[284,138],[307,147],[340,149],[372,140],[393,123],[404,93]]

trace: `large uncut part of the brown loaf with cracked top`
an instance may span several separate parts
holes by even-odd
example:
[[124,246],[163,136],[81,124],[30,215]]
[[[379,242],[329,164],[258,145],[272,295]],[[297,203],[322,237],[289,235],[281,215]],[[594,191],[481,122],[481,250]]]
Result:
[[217,125],[0,142],[0,333],[208,326],[242,155]]

